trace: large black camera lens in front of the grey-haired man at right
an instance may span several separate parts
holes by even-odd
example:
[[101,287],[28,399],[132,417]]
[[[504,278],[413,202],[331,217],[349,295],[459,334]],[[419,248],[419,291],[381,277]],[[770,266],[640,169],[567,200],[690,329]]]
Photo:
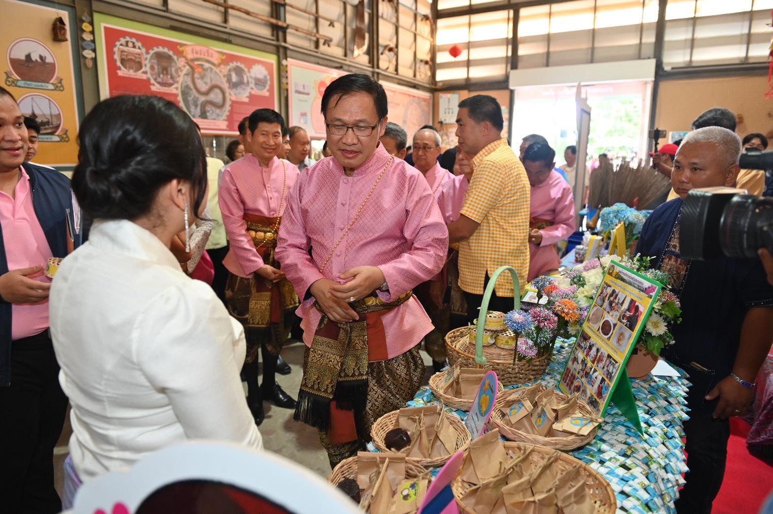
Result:
[[738,194],[725,206],[720,220],[720,247],[734,259],[756,259],[770,245],[773,198]]

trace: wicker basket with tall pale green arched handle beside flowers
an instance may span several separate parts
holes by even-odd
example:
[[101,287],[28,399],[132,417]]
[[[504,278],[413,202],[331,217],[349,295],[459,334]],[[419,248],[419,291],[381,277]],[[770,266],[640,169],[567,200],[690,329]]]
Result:
[[[504,385],[527,384],[534,382],[545,374],[552,354],[543,357],[537,357],[530,361],[518,361],[512,364],[514,350],[503,350],[495,346],[483,347],[483,329],[485,326],[485,316],[489,309],[489,299],[494,293],[494,286],[499,275],[504,271],[509,271],[512,276],[513,290],[513,308],[521,308],[520,287],[518,285],[518,275],[516,270],[510,266],[502,266],[494,272],[489,285],[483,293],[483,303],[481,304],[480,314],[478,315],[478,327],[462,326],[461,328],[451,330],[445,336],[446,353],[448,353],[448,363],[451,366],[456,364],[459,367],[490,367],[496,372],[499,381]],[[470,330],[477,330],[475,344],[470,343],[468,334]]]

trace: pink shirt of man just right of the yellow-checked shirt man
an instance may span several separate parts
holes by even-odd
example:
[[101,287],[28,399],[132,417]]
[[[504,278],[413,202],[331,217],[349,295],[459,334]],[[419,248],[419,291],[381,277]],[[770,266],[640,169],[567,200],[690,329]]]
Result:
[[531,218],[553,221],[553,225],[540,229],[542,242],[539,246],[529,243],[529,280],[552,269],[558,269],[561,259],[553,246],[566,239],[577,229],[572,188],[560,174],[550,171],[546,181],[531,188]]

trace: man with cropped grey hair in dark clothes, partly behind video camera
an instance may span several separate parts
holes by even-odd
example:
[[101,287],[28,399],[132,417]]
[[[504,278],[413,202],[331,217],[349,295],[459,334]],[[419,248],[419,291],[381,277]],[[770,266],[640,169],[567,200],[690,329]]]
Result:
[[741,138],[722,127],[688,134],[676,154],[671,180],[679,198],[657,208],[642,229],[637,252],[668,272],[683,323],[663,357],[690,374],[690,420],[685,421],[686,485],[678,512],[710,512],[727,459],[730,423],[751,403],[754,377],[773,340],[773,287],[760,262],[687,260],[679,252],[679,219],[691,189],[734,186]]

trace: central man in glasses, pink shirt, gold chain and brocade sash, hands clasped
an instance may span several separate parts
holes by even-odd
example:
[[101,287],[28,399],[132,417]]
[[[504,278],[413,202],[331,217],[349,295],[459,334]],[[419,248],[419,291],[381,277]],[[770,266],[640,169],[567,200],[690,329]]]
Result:
[[432,323],[411,289],[437,275],[448,252],[427,181],[379,143],[386,109],[369,76],[330,83],[322,114],[332,157],[298,178],[279,235],[308,347],[295,420],[318,428],[333,466],[416,394],[418,345]]

